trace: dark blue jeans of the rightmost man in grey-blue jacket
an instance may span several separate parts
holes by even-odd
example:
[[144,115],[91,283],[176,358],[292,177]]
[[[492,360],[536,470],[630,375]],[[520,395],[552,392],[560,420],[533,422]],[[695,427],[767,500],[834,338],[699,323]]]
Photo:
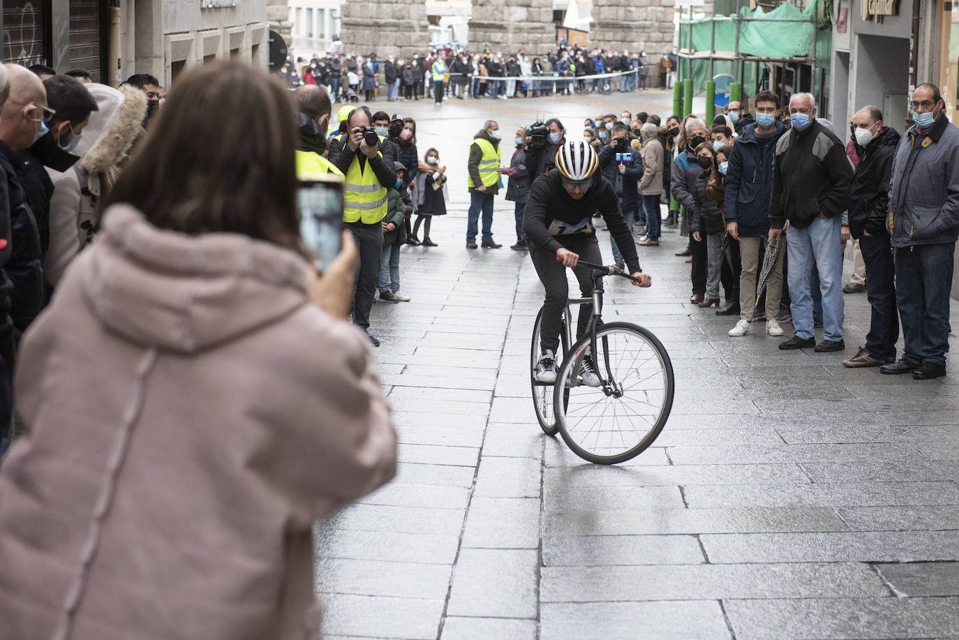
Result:
[[[955,243],[897,247],[896,288],[902,320],[902,360],[946,366],[949,350],[949,289]],[[866,267],[866,283],[873,274]]]

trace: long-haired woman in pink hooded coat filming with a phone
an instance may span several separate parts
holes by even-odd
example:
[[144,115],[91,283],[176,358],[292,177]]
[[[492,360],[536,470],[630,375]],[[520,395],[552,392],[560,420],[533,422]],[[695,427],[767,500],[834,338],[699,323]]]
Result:
[[319,636],[311,528],[393,476],[396,434],[294,212],[266,73],[180,79],[101,231],[24,337],[0,467],[0,638]]

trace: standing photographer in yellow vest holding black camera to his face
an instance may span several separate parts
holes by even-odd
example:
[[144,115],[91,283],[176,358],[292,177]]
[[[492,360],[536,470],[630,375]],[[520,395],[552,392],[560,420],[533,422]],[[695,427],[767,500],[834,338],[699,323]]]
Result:
[[[380,276],[383,227],[386,217],[386,190],[396,184],[393,153],[386,138],[370,124],[369,109],[358,107],[346,120],[347,133],[330,139],[330,161],[346,176],[343,191],[343,223],[353,233],[360,249],[360,273],[353,299],[353,323],[369,335],[369,310],[373,306]],[[359,153],[358,153],[359,151]]]

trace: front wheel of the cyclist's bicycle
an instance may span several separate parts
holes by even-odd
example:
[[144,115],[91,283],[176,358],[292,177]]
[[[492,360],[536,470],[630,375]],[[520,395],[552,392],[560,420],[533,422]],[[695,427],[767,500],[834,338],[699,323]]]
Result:
[[[663,344],[641,326],[610,322],[573,344],[556,376],[554,404],[560,436],[577,456],[616,464],[643,453],[663,431],[675,387],[672,363]],[[599,387],[581,383],[583,358],[594,355]],[[555,403],[555,399],[553,400]]]

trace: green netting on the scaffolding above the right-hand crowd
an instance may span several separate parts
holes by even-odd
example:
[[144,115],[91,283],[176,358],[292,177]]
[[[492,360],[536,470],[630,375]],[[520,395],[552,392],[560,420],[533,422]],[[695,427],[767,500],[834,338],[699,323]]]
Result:
[[[742,8],[739,13],[743,17],[769,18],[814,18],[819,15],[820,0],[811,0],[806,9],[797,9],[795,6],[784,3],[771,12],[764,12],[761,7],[755,10]],[[693,21],[692,25],[681,25],[680,47],[690,47],[690,31],[692,49],[694,53],[709,53],[711,50],[733,55],[736,51],[736,25],[730,22],[715,23],[715,39],[713,40],[713,23],[707,18]],[[760,56],[763,58],[797,58],[812,55],[812,38],[816,37],[816,66],[817,77],[826,72],[829,67],[831,32],[830,30],[816,31],[812,22],[740,22],[739,23],[739,53],[744,56]],[[687,76],[690,60],[680,59],[680,72],[683,77],[692,79],[693,92],[702,95],[706,91],[706,82],[712,80],[710,76],[710,61],[708,59],[691,60],[692,73]],[[730,60],[714,60],[713,75],[729,74],[737,77],[737,64]],[[742,83],[742,90],[748,96],[756,94],[760,82],[762,66],[760,62],[743,62],[742,77],[737,78]]]

